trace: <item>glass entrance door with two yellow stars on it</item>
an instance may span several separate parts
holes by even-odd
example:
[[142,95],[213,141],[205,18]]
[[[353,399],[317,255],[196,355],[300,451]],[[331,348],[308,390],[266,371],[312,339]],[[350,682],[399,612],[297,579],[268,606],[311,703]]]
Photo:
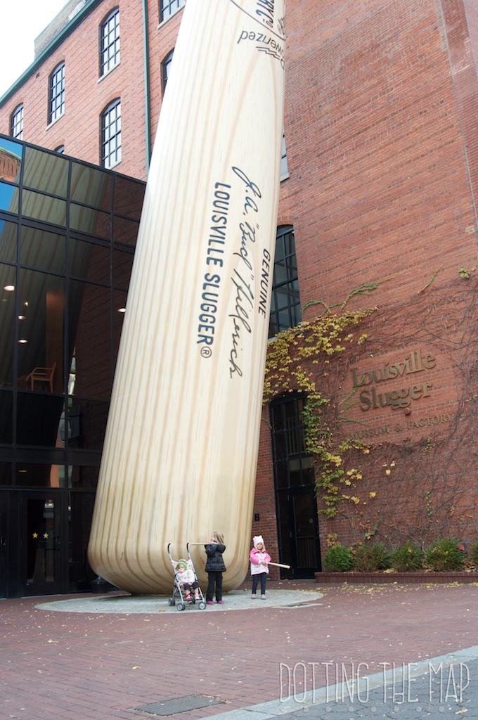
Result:
[[[22,498],[20,528],[23,534],[20,585],[24,595],[55,595],[63,587],[62,495],[26,492]],[[63,545],[66,545],[63,548]]]

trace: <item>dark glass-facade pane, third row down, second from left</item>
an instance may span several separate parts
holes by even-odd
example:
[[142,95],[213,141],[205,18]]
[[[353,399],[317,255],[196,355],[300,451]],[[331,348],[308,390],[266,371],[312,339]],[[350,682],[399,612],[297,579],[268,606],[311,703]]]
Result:
[[20,230],[20,263],[53,272],[65,272],[65,235],[47,230],[28,228]]

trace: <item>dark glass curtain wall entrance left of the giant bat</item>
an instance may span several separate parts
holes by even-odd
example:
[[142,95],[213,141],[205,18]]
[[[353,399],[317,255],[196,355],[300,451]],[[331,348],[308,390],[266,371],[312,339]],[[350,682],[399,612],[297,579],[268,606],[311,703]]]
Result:
[[[76,590],[86,572],[144,190],[140,181],[0,135],[0,486],[48,489],[48,498],[30,498],[27,517],[43,534],[60,508],[56,532],[68,536],[63,592]],[[29,576],[34,541],[27,538]],[[50,577],[55,544],[43,545]]]

